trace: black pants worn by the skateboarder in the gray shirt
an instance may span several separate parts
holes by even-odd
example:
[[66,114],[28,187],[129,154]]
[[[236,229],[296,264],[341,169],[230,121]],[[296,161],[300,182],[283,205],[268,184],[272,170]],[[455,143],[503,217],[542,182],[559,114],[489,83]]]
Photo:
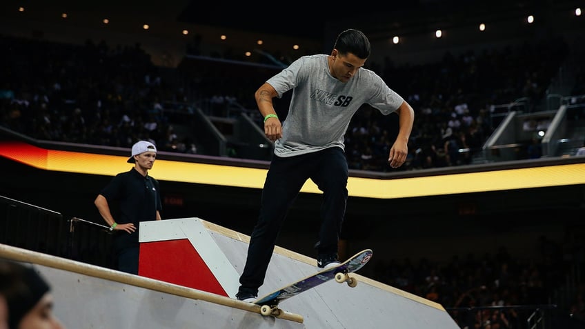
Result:
[[248,258],[239,279],[240,292],[257,295],[264,283],[282,223],[307,179],[323,192],[317,252],[337,253],[337,243],[348,199],[348,165],[341,148],[295,157],[273,157],[262,190],[259,218],[248,246]]

